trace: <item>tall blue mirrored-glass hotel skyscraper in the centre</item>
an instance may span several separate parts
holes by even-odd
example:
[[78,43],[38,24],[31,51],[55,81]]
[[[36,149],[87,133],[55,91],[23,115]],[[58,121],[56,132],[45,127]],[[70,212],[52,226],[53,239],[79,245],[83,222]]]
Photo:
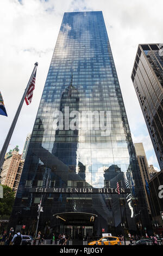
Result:
[[[61,111],[65,121],[65,107],[70,112],[110,111],[111,127],[57,129],[54,123],[59,124],[59,120],[54,113]],[[70,116],[70,122],[73,118]],[[85,118],[82,123],[87,121],[91,122]],[[102,12],[65,13],[24,163],[12,226],[23,223],[28,232],[35,231],[41,194],[30,193],[31,187],[116,188],[117,182],[120,187],[130,188],[130,193],[43,194],[39,230],[46,235],[65,232],[80,239],[86,234],[101,235],[102,229],[122,234],[122,224],[125,231],[137,233],[139,221],[149,229],[140,172]]]

